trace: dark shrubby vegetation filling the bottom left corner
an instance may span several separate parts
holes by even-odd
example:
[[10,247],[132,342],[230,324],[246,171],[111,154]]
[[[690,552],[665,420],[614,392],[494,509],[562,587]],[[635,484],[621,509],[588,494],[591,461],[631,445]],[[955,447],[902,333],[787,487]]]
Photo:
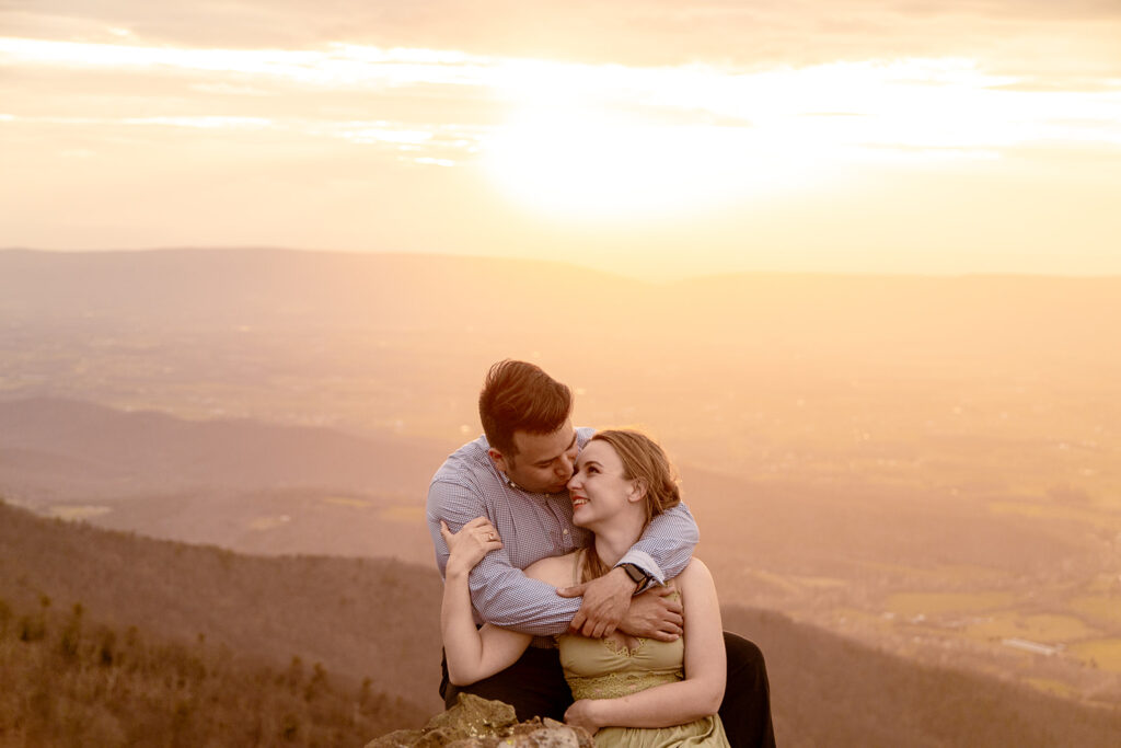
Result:
[[95,622],[80,603],[0,599],[0,745],[359,746],[421,718],[370,682],[339,683],[224,646],[166,641]]

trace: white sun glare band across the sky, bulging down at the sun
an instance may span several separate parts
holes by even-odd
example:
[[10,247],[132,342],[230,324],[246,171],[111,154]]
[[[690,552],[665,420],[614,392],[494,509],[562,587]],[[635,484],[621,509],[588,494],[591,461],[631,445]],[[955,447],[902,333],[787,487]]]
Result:
[[[1121,145],[1117,86],[1018,86],[960,57],[744,71],[345,43],[142,46],[126,43],[128,34],[112,37],[112,44],[0,37],[0,66],[96,70],[104,73],[99,81],[113,80],[123,92],[119,101],[106,94],[113,105],[101,110],[117,117],[25,107],[3,112],[0,122],[104,132],[203,129],[216,138],[268,130],[294,142],[344,141],[355,155],[410,166],[481,161],[509,203],[596,225],[707,218],[776,195],[840,192],[869,168],[918,173],[998,160],[1016,148],[1115,153]],[[128,90],[154,76],[186,81],[201,95],[182,99],[175,111],[150,110],[148,98]],[[318,104],[325,93],[356,104],[332,114]]]

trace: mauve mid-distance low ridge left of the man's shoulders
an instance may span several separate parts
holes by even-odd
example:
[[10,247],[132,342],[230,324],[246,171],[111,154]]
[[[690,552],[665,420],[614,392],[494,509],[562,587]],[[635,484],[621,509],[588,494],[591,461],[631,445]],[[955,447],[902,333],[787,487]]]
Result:
[[[36,484],[36,474],[49,477],[50,491],[70,500],[307,487],[413,497],[439,451],[401,436],[185,421],[58,398],[0,400],[0,424],[6,477],[21,474],[28,486]],[[7,458],[6,450],[12,450]]]

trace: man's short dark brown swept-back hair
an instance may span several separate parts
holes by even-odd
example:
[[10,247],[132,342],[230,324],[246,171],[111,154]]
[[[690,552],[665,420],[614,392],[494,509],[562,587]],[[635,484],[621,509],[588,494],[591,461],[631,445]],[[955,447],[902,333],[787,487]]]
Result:
[[540,367],[503,359],[487,372],[479,393],[479,419],[491,447],[507,459],[518,451],[513,433],[552,434],[572,413],[572,390]]

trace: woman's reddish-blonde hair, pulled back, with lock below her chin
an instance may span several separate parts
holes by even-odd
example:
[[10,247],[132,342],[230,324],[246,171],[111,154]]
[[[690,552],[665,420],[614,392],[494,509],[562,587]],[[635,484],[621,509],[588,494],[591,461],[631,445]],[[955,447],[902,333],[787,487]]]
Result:
[[[596,432],[591,442],[606,442],[623,463],[623,478],[637,480],[646,489],[646,521],[682,502],[680,489],[669,458],[652,438],[629,428],[615,428]],[[590,547],[584,555],[583,581],[603,576],[611,569],[603,563],[595,547]]]

